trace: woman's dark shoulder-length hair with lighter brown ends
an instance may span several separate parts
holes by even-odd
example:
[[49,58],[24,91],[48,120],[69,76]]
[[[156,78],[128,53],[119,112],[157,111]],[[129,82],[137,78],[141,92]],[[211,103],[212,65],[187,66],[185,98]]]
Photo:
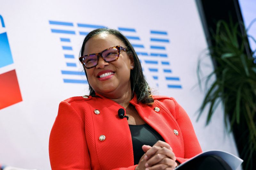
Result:
[[[117,31],[115,29],[109,29],[109,28],[99,28],[99,29],[91,31],[84,38],[84,42],[83,42],[83,45],[82,45],[82,48],[80,51],[80,55],[81,56],[84,55],[83,53],[84,53],[85,43],[90,38],[92,38],[95,35],[99,35],[100,33],[108,33],[108,34],[115,35],[119,40],[121,40],[125,44],[126,52],[128,53],[128,55],[130,57],[131,56],[133,57],[133,61],[134,61],[134,69],[131,70],[131,75],[130,75],[132,92],[136,93],[138,103],[142,102],[142,103],[145,103],[148,105],[152,105],[154,102],[154,99],[152,98],[150,87],[143,75],[138,55],[136,54],[131,43],[127,40],[127,38],[122,33],[120,33],[119,31]],[[84,68],[84,72],[85,72],[86,78],[88,80],[85,68]],[[88,81],[88,84],[89,84],[89,81]],[[90,84],[89,84],[89,90],[90,90],[90,95],[95,96],[95,92],[92,89],[92,86]]]

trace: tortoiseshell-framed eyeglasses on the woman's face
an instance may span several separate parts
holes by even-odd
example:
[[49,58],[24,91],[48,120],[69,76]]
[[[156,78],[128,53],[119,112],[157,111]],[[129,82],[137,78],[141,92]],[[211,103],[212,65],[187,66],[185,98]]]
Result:
[[81,56],[79,57],[79,60],[86,69],[90,69],[92,67],[95,67],[98,64],[100,56],[102,56],[105,62],[116,61],[119,58],[121,50],[126,51],[124,47],[114,46],[114,47],[107,48],[101,51],[100,53],[93,53],[93,54]]

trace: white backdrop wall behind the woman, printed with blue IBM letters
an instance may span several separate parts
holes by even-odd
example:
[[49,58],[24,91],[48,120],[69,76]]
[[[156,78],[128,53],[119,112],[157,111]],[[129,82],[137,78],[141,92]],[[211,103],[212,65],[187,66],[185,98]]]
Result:
[[[22,96],[0,109],[1,164],[50,169],[48,140],[59,102],[88,94],[78,55],[84,34],[97,26],[119,29],[129,38],[154,93],[172,96],[184,107],[203,151],[237,155],[221,108],[209,126],[206,113],[196,122],[204,97],[196,66],[207,44],[194,1],[6,0],[0,1],[0,15],[5,24],[0,33],[7,33],[13,59],[0,67],[0,75],[15,69]],[[207,73],[212,64],[205,62]]]

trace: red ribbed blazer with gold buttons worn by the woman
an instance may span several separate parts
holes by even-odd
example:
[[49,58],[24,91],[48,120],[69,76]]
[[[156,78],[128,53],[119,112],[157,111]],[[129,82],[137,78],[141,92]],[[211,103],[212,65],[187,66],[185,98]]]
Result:
[[[130,103],[140,117],[171,145],[180,163],[201,153],[184,109],[173,98],[153,98],[153,106],[137,103],[136,95]],[[160,111],[156,112],[155,107]],[[100,95],[72,97],[60,102],[49,140],[52,169],[135,169],[131,132],[127,119],[118,117],[119,108],[124,107]],[[95,114],[96,109],[99,114]],[[174,134],[174,129],[178,135]],[[106,137],[105,140],[99,139],[101,135]]]

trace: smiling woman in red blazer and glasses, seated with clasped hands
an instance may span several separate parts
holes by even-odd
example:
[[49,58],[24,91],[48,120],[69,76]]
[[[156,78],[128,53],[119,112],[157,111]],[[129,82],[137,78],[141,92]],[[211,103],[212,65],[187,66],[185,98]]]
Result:
[[151,95],[120,32],[90,32],[79,60],[90,95],[60,103],[49,141],[52,169],[174,169],[202,152],[183,108]]

